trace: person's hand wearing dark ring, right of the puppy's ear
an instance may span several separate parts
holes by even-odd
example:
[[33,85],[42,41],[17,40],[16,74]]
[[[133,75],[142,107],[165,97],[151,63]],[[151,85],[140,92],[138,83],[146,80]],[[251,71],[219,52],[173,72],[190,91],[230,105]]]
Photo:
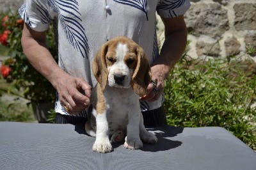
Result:
[[154,65],[151,67],[152,81],[148,84],[147,95],[140,97],[140,100],[145,100],[147,102],[156,101],[164,91],[164,65]]

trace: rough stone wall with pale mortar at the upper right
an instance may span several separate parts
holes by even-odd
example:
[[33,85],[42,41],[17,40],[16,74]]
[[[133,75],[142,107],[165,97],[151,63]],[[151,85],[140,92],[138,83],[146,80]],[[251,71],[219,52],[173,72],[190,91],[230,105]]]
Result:
[[[192,58],[250,57],[256,61],[256,0],[190,0],[184,15]],[[159,19],[159,17],[157,16]],[[163,23],[157,20],[159,42],[163,43]]]

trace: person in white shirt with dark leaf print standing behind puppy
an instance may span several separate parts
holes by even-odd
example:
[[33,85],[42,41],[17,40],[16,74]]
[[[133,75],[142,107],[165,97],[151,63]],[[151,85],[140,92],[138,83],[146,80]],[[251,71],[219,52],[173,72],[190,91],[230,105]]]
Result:
[[[141,97],[146,126],[166,125],[164,79],[184,52],[187,29],[184,13],[189,0],[27,0],[19,13],[24,19],[22,47],[31,65],[57,90],[56,123],[85,123],[90,93],[97,81],[91,71],[100,45],[127,36],[145,51],[152,70],[147,95]],[[156,12],[165,28],[159,54]],[[45,31],[54,24],[58,63],[46,47]]]

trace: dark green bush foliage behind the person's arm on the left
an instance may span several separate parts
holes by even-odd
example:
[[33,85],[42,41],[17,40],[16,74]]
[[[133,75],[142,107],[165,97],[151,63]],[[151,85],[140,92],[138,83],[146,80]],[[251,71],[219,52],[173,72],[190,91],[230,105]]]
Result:
[[[24,55],[21,46],[23,21],[20,20],[19,13],[8,13],[8,20],[4,29],[8,29],[11,33],[8,35],[8,47],[10,49],[10,59],[4,62],[11,68],[10,75],[6,77],[7,82],[13,82],[13,88],[22,89],[23,96],[31,102],[47,103],[54,102],[56,98],[56,90],[51,83],[47,81],[33,66],[30,65],[28,59]],[[1,30],[1,29],[0,29]],[[56,45],[52,26],[47,32],[47,47],[52,56],[57,59]]]

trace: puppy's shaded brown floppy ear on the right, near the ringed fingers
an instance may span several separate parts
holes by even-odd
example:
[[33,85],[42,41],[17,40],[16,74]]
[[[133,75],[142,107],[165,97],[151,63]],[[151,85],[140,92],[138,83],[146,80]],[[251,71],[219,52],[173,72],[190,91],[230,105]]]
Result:
[[137,65],[132,75],[132,89],[140,97],[147,95],[147,87],[151,81],[151,69],[147,56],[141,47],[137,47]]

